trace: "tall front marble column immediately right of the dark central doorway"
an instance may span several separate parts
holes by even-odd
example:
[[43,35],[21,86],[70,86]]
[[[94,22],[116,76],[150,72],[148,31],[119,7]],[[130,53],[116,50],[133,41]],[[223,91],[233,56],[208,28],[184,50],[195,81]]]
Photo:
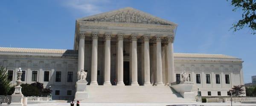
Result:
[[131,85],[132,86],[139,86],[138,84],[138,64],[137,64],[137,34],[131,34],[131,53],[132,53],[132,76],[131,76]]

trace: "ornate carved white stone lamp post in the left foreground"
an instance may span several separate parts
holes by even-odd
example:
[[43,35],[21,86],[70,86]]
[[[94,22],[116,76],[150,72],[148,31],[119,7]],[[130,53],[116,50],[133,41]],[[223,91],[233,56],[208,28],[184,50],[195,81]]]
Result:
[[12,94],[12,103],[10,104],[10,106],[23,106],[23,94],[21,92],[21,74],[22,74],[22,70],[21,68],[19,68],[19,70],[17,71],[17,85],[15,86],[15,91]]

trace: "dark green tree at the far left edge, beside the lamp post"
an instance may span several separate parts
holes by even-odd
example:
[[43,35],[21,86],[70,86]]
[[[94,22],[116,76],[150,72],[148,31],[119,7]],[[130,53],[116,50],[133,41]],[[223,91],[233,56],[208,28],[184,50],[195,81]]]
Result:
[[11,83],[8,80],[7,70],[3,66],[0,67],[0,95],[7,95],[10,89]]

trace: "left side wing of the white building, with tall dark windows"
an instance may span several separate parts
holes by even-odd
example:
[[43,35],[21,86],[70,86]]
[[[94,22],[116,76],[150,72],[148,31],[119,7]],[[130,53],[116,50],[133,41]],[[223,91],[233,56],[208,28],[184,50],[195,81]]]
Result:
[[70,100],[76,92],[76,50],[0,47],[0,66],[7,67],[12,84],[16,84],[17,70],[21,67],[22,83],[51,86],[53,99]]

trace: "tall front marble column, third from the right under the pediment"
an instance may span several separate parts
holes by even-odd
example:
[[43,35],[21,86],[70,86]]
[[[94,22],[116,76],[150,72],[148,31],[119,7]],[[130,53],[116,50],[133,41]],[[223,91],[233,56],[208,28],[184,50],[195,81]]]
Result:
[[144,86],[151,85],[151,83],[150,83],[149,38],[150,38],[149,35],[143,36],[143,40],[144,40]]

